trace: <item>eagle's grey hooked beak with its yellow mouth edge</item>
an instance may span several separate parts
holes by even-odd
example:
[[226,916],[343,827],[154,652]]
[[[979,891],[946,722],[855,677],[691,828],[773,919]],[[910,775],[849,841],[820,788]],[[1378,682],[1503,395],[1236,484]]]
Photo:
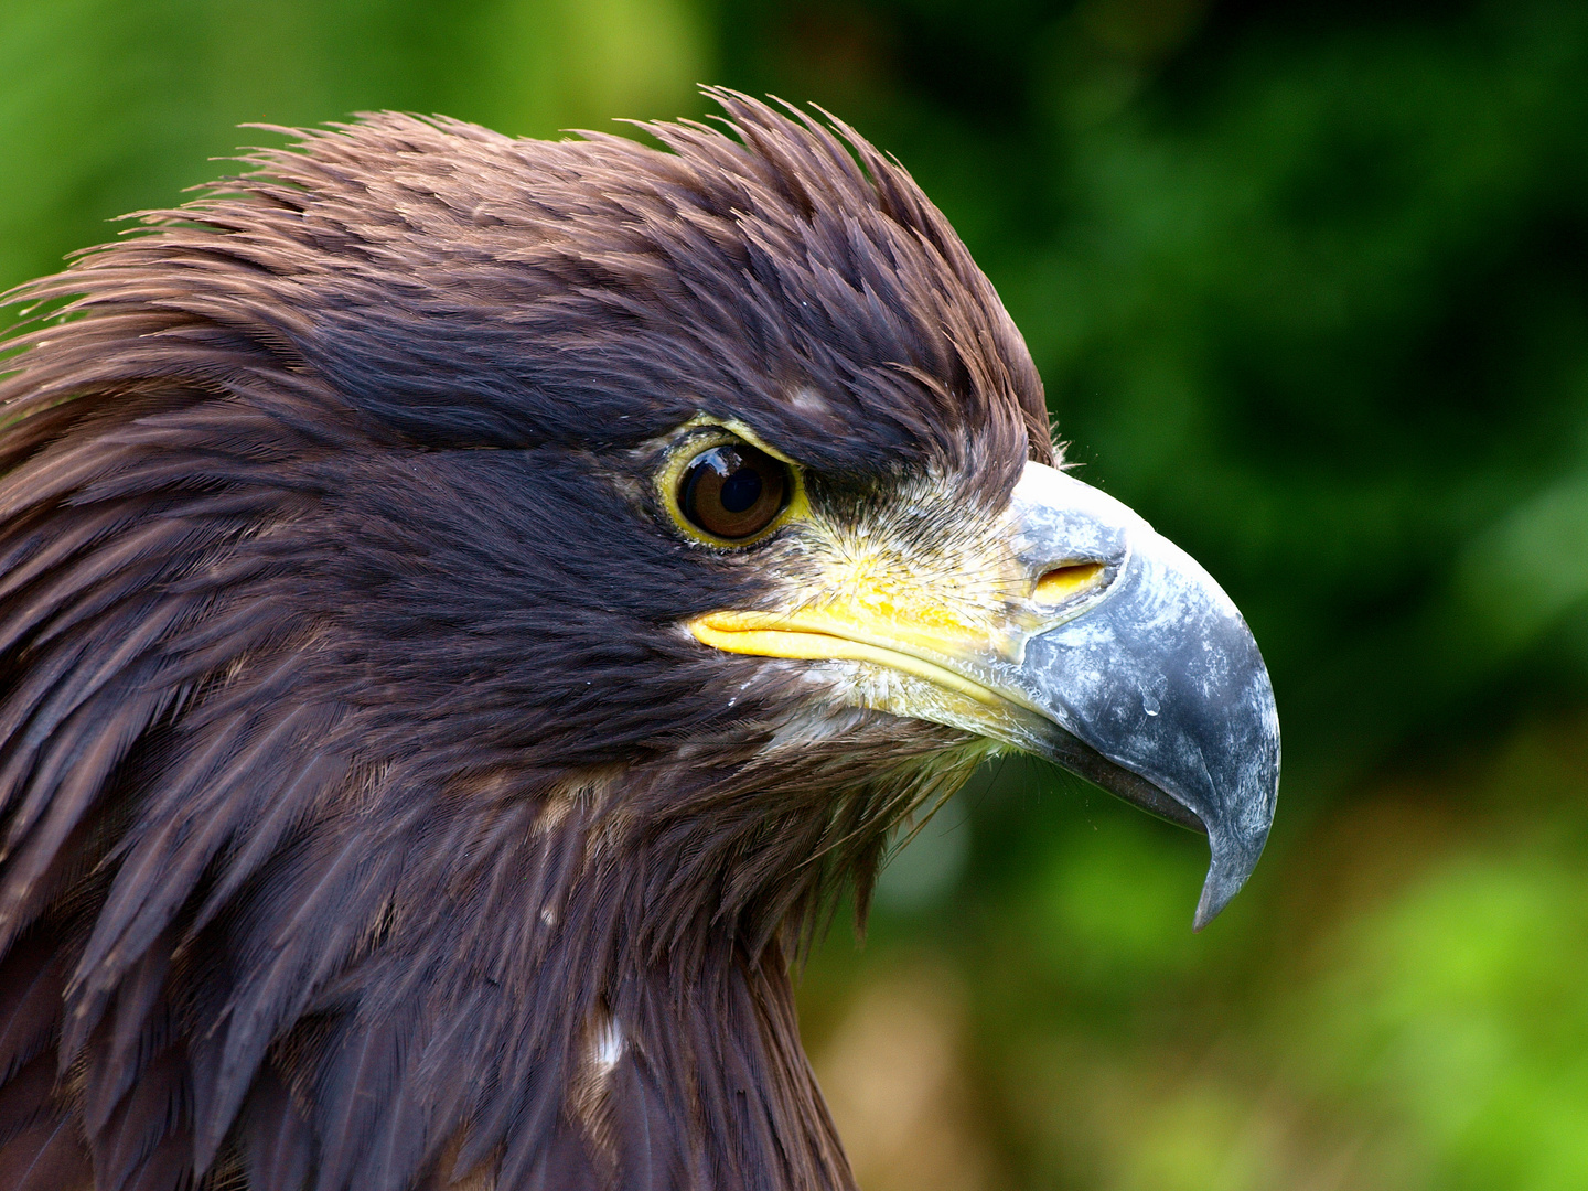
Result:
[[942,697],[872,702],[1037,753],[1205,832],[1202,929],[1256,865],[1278,794],[1278,715],[1251,630],[1185,551],[1051,467],[1026,464],[1002,532],[1008,594],[996,610],[972,615],[953,591],[850,583],[689,629],[730,653],[924,680]]

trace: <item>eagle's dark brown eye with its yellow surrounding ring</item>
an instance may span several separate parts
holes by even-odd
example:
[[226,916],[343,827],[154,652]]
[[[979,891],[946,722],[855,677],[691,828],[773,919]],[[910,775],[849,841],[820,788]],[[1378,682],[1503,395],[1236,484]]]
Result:
[[800,468],[719,427],[680,443],[657,486],[673,522],[718,549],[764,542],[805,507]]

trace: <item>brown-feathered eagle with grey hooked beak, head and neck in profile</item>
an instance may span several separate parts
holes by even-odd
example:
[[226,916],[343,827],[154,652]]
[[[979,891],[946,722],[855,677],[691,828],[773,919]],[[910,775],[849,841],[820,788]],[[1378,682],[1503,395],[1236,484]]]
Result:
[[837,1191],[791,967],[989,753],[1256,862],[1218,586],[838,121],[299,133],[13,295],[0,1191]]

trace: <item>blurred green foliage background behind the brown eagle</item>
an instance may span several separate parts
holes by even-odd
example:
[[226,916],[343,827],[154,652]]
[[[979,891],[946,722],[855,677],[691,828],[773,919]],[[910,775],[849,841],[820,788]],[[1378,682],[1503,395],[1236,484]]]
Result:
[[368,108],[818,102],[1023,327],[1081,475],[1274,670],[1194,837],[1008,761],[805,977],[867,1191],[1588,1188],[1588,6],[0,0],[0,284]]

